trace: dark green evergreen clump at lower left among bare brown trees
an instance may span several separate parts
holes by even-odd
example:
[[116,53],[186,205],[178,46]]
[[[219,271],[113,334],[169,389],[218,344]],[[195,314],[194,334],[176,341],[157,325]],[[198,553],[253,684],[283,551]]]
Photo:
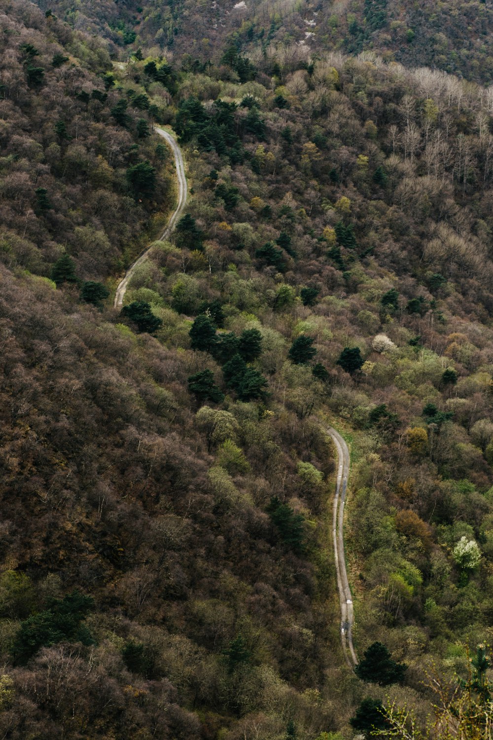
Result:
[[82,624],[94,606],[90,596],[72,591],[64,599],[48,599],[46,606],[44,611],[21,622],[12,647],[16,663],[27,663],[43,645],[56,645],[57,642],[94,645],[91,633]]

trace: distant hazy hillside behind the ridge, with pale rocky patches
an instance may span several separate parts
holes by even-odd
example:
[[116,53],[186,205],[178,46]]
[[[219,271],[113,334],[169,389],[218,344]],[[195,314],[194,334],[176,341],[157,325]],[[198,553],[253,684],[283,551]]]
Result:
[[288,54],[296,46],[314,55],[328,50],[352,55],[375,51],[386,61],[407,67],[426,66],[486,85],[493,82],[493,8],[483,0],[399,4],[81,0],[77,7],[66,0],[39,0],[38,4],[77,30],[97,33],[121,60],[142,47],[187,67],[209,60],[217,63],[231,44],[259,57],[281,44],[288,47]]

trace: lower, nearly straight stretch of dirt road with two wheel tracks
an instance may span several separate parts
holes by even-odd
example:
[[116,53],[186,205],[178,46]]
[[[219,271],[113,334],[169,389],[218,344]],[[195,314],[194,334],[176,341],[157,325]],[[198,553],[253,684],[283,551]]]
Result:
[[327,429],[328,434],[336,445],[339,458],[336,494],[334,496],[333,508],[333,543],[334,559],[336,561],[337,588],[339,589],[339,602],[341,602],[341,643],[347,665],[355,667],[358,662],[353,645],[353,595],[349,588],[347,579],[346,558],[344,556],[344,504],[346,502],[347,477],[349,475],[350,457],[347,444],[343,438],[332,427]]

